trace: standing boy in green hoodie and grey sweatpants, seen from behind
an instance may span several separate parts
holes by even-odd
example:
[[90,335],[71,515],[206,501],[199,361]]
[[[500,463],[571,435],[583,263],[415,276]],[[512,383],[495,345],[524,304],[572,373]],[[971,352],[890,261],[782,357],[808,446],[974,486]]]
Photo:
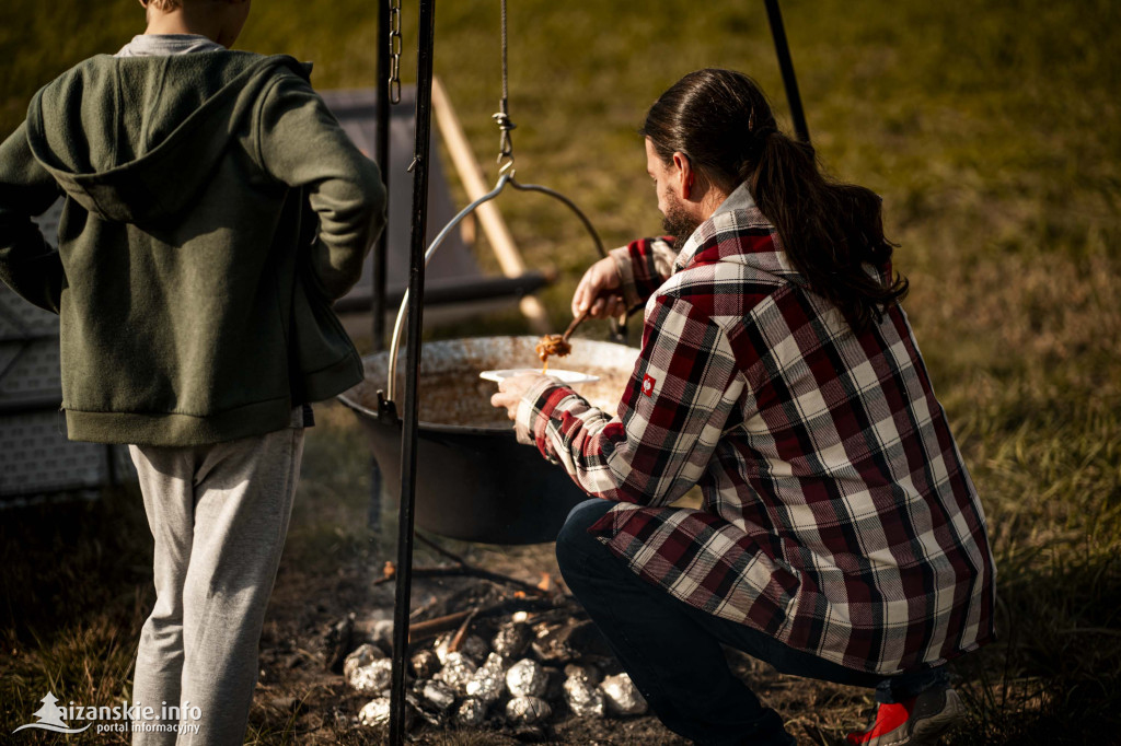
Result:
[[155,538],[133,700],[189,705],[137,744],[241,743],[305,405],[362,379],[331,302],[385,190],[309,66],[228,49],[250,1],[140,0],[0,144],[0,279],[59,314],[68,436],[130,444]]

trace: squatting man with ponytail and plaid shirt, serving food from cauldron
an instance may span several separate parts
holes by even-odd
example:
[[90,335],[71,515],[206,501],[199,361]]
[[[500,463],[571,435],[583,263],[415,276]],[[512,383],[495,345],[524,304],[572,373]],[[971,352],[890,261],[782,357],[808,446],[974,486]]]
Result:
[[[963,714],[944,663],[992,640],[995,571],[880,199],[827,181],[740,73],[686,75],[642,134],[676,237],[617,249],[573,297],[646,304],[618,416],[536,374],[492,399],[595,497],[557,538],[565,581],[697,743],[794,743],[722,644],[874,688],[850,744],[933,743]],[[703,506],[674,506],[694,485]]]

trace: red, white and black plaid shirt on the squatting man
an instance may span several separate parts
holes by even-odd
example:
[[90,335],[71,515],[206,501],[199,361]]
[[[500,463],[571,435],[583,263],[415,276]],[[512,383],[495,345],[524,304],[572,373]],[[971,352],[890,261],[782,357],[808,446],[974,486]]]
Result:
[[[675,261],[659,240],[615,257],[649,296],[618,417],[556,382],[517,417],[619,503],[591,532],[675,597],[852,669],[990,641],[984,514],[902,309],[854,334],[745,187]],[[697,484],[701,510],[670,505]]]

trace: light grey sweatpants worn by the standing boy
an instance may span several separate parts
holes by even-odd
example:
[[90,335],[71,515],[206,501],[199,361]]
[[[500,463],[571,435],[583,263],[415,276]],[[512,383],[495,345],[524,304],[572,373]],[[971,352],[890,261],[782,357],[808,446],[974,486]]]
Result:
[[290,428],[213,446],[130,447],[156,540],[157,595],[132,684],[133,701],[156,719],[133,722],[135,746],[243,742],[299,478],[297,422],[294,413]]

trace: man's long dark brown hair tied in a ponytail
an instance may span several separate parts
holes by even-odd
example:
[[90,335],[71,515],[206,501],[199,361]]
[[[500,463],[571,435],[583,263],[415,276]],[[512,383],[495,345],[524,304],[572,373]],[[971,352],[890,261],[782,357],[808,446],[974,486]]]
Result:
[[809,143],[779,132],[747,75],[689,73],[650,106],[640,132],[664,161],[682,152],[728,192],[747,181],[790,264],[858,332],[907,295],[906,278],[886,272],[895,244],[883,237],[880,198],[826,178]]

